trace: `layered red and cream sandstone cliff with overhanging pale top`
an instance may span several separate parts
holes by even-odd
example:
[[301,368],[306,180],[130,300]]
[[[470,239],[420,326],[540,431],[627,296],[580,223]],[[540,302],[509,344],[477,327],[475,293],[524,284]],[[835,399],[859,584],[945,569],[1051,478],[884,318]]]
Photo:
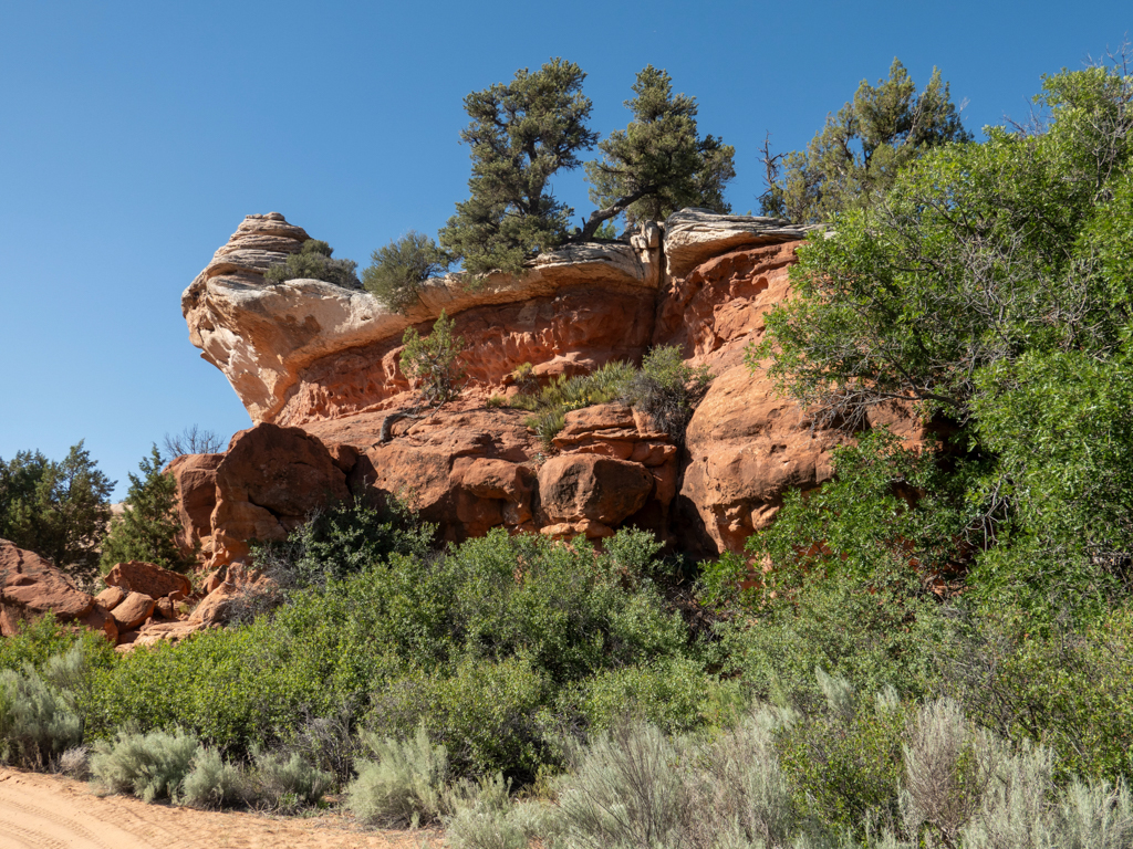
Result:
[[[602,538],[636,524],[697,554],[739,550],[787,488],[829,477],[837,441],[743,365],[764,314],[790,297],[804,237],[772,218],[685,209],[630,243],[543,255],[518,280],[429,281],[399,315],[329,283],[266,282],[307,234],[278,213],[248,216],[181,306],[193,344],[255,426],[224,455],[179,462],[182,521],[215,564],[363,492],[408,497],[453,540],[494,526]],[[415,406],[402,333],[428,333],[442,309],[465,337],[468,384],[438,411],[399,418]],[[715,376],[683,446],[607,404],[571,413],[547,457],[526,413],[484,403],[514,393],[526,362],[544,378],[587,374],[670,344]]]

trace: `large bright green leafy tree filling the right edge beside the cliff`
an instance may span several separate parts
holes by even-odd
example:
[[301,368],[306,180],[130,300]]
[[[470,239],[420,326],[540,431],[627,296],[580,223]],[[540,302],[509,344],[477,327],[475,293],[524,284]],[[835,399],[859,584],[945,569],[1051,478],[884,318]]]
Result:
[[1133,77],[1037,100],[1039,131],[928,152],[809,240],[748,362],[826,423],[951,420],[974,594],[1081,609],[1133,564]]

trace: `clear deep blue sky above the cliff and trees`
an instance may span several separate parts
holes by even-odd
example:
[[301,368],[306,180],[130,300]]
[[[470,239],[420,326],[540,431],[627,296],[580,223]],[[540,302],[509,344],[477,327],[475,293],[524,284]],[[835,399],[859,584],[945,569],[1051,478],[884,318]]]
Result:
[[[181,291],[249,213],[335,256],[435,232],[466,197],[472,89],[578,62],[593,126],[623,127],[633,75],[666,68],[702,132],[802,147],[900,57],[938,66],[978,131],[1022,117],[1045,72],[1133,35],[1127,0],[1045,2],[0,3],[0,457],[86,439],[119,481],[152,441],[249,420],[198,358]],[[555,194],[588,212],[580,174]]]

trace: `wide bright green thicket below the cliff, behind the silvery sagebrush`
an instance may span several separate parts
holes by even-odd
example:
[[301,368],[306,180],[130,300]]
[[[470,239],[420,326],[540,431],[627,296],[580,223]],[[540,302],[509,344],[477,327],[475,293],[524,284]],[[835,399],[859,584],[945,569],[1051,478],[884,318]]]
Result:
[[585,721],[566,696],[577,683],[691,651],[649,576],[649,539],[623,532],[599,554],[493,532],[391,554],[250,625],[123,657],[83,703],[88,729],[182,727],[239,753],[290,745],[310,718],[349,731],[368,713],[383,735],[424,722],[460,771],[530,778],[559,729]]

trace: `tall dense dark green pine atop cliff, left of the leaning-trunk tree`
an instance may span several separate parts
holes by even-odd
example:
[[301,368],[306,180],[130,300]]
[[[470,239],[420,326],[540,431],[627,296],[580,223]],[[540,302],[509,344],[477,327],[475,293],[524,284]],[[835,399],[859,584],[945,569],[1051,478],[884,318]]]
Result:
[[521,274],[528,257],[566,238],[573,209],[555,199],[548,183],[556,172],[578,168],[579,153],[598,140],[586,126],[585,78],[573,62],[552,59],[465,98],[471,123],[461,139],[471,148],[471,196],[457,204],[440,233],[465,271]]

